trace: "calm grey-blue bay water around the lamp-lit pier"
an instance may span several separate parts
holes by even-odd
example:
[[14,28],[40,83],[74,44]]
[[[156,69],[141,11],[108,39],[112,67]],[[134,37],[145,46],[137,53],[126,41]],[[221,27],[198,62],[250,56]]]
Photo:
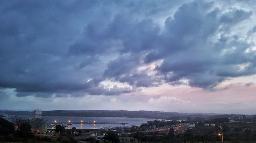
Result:
[[[30,117],[30,116],[22,116],[22,117]],[[48,122],[54,122],[54,120],[57,120],[57,122],[68,122],[68,120],[71,120],[71,122],[80,122],[83,120],[83,122],[93,122],[94,120],[96,122],[119,122],[119,123],[128,123],[125,125],[119,125],[119,124],[72,124],[68,127],[65,127],[67,129],[71,129],[72,127],[76,127],[77,129],[100,129],[104,127],[117,127],[117,126],[140,126],[142,123],[147,123],[147,121],[155,120],[155,119],[147,119],[147,118],[126,118],[126,117],[75,117],[75,116],[42,116],[42,118],[45,118],[48,120]]]

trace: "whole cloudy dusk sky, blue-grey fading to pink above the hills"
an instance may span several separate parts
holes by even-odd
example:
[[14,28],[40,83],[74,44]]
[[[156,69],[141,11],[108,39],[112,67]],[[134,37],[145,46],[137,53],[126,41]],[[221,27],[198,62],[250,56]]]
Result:
[[256,113],[254,1],[0,1],[0,110]]

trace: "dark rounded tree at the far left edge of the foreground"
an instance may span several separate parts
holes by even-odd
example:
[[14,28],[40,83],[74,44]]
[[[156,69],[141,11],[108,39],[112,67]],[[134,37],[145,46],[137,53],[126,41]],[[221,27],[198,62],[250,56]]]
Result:
[[9,121],[3,118],[0,118],[0,135],[8,135],[13,133],[14,133],[14,125]]

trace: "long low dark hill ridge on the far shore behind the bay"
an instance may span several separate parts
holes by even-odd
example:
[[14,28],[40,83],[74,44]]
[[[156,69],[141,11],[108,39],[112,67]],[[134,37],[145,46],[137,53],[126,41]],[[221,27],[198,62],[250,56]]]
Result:
[[[0,110],[0,114],[7,115],[33,115],[33,111],[8,111]],[[214,113],[178,113],[163,111],[127,111],[127,110],[53,110],[42,111],[43,116],[83,116],[83,117],[130,117],[130,118],[154,118],[167,120],[186,120],[187,118],[213,119],[219,117],[240,116],[235,114]]]

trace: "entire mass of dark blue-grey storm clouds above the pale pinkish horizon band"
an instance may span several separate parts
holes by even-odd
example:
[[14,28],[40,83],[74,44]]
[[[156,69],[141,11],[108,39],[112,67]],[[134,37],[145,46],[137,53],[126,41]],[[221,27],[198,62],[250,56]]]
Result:
[[246,52],[253,43],[232,29],[252,14],[204,1],[1,1],[0,87],[38,97],[119,95],[162,83],[212,88],[256,73],[255,51]]

